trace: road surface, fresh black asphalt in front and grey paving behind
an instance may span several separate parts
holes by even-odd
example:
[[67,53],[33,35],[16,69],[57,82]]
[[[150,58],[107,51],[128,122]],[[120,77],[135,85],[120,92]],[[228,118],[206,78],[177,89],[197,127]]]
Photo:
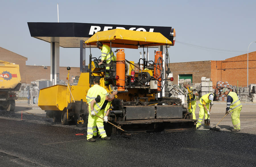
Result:
[[[223,105],[214,104],[212,126],[224,116]],[[201,126],[93,143],[86,141],[86,128],[52,123],[36,106],[16,106],[15,112],[0,111],[0,166],[256,166],[254,104],[243,105],[241,132],[228,130],[228,115],[220,132]],[[21,121],[19,110],[38,116],[23,113]]]

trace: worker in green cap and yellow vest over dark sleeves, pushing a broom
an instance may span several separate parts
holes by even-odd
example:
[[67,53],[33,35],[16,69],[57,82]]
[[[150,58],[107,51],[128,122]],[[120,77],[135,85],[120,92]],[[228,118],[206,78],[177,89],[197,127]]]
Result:
[[239,96],[236,92],[230,92],[228,88],[223,88],[221,94],[227,95],[227,108],[226,114],[232,112],[231,119],[234,125],[234,129],[231,129],[232,132],[240,131],[240,112],[242,110],[242,104],[240,102]]

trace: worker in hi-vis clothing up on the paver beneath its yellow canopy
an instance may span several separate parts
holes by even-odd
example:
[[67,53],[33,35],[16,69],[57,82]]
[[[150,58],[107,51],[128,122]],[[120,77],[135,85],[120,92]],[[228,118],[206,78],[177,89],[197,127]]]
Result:
[[[106,64],[109,64],[110,61],[116,61],[116,57],[114,55],[114,53],[111,51],[111,55],[110,55],[110,47],[108,45],[102,44],[101,42],[97,42],[96,46],[101,50],[102,54],[101,54],[101,62],[98,63],[98,65],[101,65],[103,63],[104,60],[106,60]],[[106,70],[109,70],[110,67],[106,67]],[[110,73],[109,71],[106,72],[106,77],[109,77]],[[105,82],[107,83],[107,81]]]

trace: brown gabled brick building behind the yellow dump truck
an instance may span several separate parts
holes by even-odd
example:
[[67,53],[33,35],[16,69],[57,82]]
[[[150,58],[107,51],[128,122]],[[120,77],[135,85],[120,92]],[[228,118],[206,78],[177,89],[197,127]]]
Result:
[[21,82],[26,83],[26,61],[28,58],[0,47],[0,60],[18,64]]

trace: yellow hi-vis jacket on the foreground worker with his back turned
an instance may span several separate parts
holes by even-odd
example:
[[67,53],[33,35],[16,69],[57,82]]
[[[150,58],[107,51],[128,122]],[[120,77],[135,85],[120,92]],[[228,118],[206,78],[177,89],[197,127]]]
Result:
[[[87,95],[86,95],[86,100],[87,100],[87,104],[88,104],[88,107],[89,107],[89,110],[88,111],[91,111],[91,106],[90,106],[90,103],[92,100],[96,99],[96,97],[100,95],[100,100],[102,101],[102,99],[104,99],[105,101],[105,97],[106,95],[108,95],[108,92],[106,91],[106,89],[104,89],[103,87],[101,87],[100,85],[93,85],[93,87],[91,87],[88,92],[87,92]],[[100,102],[101,102],[100,101]],[[103,103],[104,103],[103,101]],[[103,105],[102,103],[102,105]],[[101,106],[102,106],[101,105]],[[98,104],[97,102],[94,104],[94,106],[99,106],[100,107],[100,104]],[[107,105],[108,106],[108,105]],[[106,106],[106,107],[107,107]],[[97,110],[99,109],[98,108],[95,108],[94,112],[95,113],[98,113],[98,111],[100,110]]]

